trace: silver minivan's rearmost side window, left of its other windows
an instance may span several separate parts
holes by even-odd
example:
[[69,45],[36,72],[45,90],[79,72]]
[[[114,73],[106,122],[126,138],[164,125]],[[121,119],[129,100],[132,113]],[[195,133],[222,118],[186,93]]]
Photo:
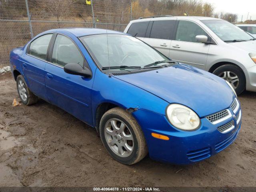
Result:
[[149,21],[133,23],[128,29],[127,33],[136,37],[145,37]]

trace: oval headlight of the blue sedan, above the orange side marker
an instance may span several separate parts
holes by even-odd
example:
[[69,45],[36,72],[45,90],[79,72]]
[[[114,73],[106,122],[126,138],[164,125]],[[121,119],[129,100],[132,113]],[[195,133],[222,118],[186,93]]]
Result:
[[180,104],[170,104],[166,109],[166,116],[173,126],[185,131],[196,130],[201,124],[193,110]]

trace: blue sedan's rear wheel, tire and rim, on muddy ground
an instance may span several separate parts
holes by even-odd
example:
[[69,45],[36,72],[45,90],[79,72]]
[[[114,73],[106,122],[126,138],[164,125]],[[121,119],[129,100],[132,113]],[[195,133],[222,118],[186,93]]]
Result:
[[24,105],[31,105],[38,101],[38,97],[30,91],[22,75],[18,75],[16,85],[20,100]]

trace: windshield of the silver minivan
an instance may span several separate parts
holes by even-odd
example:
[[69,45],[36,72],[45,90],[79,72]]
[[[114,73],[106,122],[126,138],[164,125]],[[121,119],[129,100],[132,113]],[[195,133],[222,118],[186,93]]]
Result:
[[204,20],[202,21],[223,41],[249,41],[252,39],[248,33],[244,32],[238,26],[224,20]]

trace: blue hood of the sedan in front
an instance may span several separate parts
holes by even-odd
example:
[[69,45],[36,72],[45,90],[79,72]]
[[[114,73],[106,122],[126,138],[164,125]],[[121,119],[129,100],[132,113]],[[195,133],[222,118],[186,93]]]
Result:
[[228,108],[234,100],[234,93],[223,79],[186,64],[114,77],[169,103],[188,106],[200,117]]

